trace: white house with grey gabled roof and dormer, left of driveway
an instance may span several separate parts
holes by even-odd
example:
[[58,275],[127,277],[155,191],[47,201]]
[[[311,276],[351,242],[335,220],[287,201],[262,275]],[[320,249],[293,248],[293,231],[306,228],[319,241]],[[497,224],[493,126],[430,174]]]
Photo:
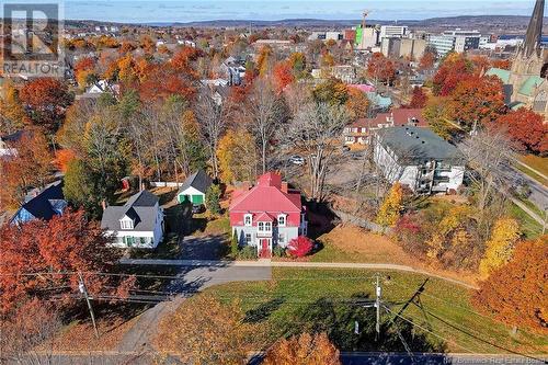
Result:
[[119,248],[155,249],[163,238],[163,209],[158,196],[142,191],[122,206],[109,206],[103,212],[101,228],[116,237]]

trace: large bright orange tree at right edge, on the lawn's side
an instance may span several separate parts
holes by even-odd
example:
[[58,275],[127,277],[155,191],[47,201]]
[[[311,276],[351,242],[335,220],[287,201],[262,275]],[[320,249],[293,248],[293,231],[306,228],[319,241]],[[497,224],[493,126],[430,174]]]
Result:
[[472,303],[495,319],[548,334],[548,236],[518,243],[505,265],[494,270]]

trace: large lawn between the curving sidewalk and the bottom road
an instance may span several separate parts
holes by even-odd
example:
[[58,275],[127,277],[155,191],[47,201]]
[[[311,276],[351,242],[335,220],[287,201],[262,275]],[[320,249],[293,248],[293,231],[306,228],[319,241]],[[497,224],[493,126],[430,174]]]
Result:
[[[242,308],[247,311],[247,320],[256,324],[255,338],[261,341],[258,341],[255,346],[269,346],[281,335],[297,333],[302,329],[321,329],[322,323],[334,318],[336,324],[331,323],[327,329],[332,331],[331,335],[343,339],[341,341],[344,343],[352,343],[356,340],[353,339],[356,337],[353,334],[353,329],[354,320],[358,320],[363,331],[359,337],[365,340],[361,346],[367,347],[368,351],[387,351],[393,350],[395,346],[401,350],[399,340],[393,337],[393,329],[390,329],[389,316],[386,313],[381,318],[383,335],[391,335],[393,341],[391,345],[384,343],[376,347],[372,332],[375,309],[364,309],[355,301],[358,297],[373,298],[375,274],[376,272],[366,270],[274,267],[273,278],[270,282],[227,284],[209,288],[207,293],[222,301],[235,298],[240,300]],[[384,300],[389,304],[391,310],[398,311],[424,280],[425,276],[419,274],[380,272]],[[432,332],[447,341],[441,343],[438,338],[416,329],[415,334],[419,333],[419,335],[414,337],[411,350],[424,350],[427,343],[432,350],[460,353],[468,352],[465,347],[478,353],[506,353],[501,347],[528,353],[548,352],[546,339],[543,337],[525,331],[518,331],[515,337],[511,337],[507,327],[476,312],[469,304],[470,294],[461,286],[432,278],[421,295],[421,303],[426,315],[411,305],[402,316],[423,328],[430,328]],[[406,322],[398,322],[398,327],[402,332],[406,331]],[[422,342],[419,342],[416,339],[421,338],[421,332],[424,338]],[[355,350],[363,349],[356,347]]]

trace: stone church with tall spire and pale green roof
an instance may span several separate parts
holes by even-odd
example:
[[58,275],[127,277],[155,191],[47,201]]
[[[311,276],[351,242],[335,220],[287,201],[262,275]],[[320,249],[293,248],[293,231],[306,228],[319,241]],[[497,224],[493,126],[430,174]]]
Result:
[[486,75],[504,84],[506,105],[511,110],[530,107],[548,119],[548,48],[541,46],[545,1],[537,0],[527,27],[525,42],[518,47],[512,69],[491,68]]

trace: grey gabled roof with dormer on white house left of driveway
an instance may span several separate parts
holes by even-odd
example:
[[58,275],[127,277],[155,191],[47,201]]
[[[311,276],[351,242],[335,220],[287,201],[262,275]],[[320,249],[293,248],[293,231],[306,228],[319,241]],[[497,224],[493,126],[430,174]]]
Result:
[[[106,207],[101,219],[101,228],[113,231],[152,231],[156,227],[158,202],[158,197],[150,192],[139,192],[122,206]],[[125,216],[134,220],[134,229],[122,229],[119,220]]]

